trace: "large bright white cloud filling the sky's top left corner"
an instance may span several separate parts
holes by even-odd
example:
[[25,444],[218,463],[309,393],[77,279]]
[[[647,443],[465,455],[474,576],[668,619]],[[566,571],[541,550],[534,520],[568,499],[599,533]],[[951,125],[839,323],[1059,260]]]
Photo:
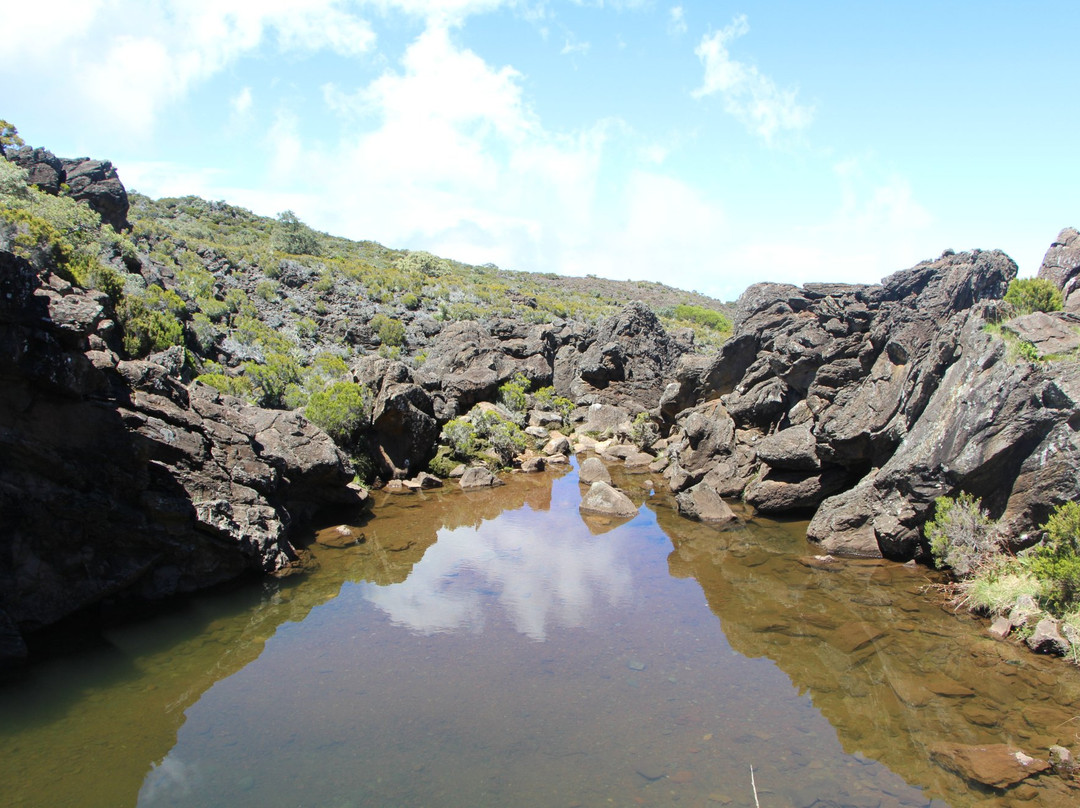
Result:
[[[0,71],[32,70],[43,90],[81,102],[83,120],[118,133],[148,134],[166,105],[271,36],[282,50],[329,50],[342,56],[363,53],[375,41],[368,23],[348,11],[343,0],[44,5],[48,17],[58,21],[55,30],[44,40],[10,38],[0,50]],[[41,3],[17,8],[42,14]],[[5,15],[11,24],[11,14]]]

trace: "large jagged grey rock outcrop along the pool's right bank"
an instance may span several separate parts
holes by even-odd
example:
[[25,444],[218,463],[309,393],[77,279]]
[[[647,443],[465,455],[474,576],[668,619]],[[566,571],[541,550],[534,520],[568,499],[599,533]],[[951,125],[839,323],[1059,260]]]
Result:
[[966,490],[1024,541],[1080,493],[1080,374],[985,331],[1008,319],[1015,271],[999,252],[947,253],[876,286],[751,287],[719,355],[665,392],[704,402],[665,413],[672,489],[813,513],[829,552],[893,558],[920,556],[933,500]]

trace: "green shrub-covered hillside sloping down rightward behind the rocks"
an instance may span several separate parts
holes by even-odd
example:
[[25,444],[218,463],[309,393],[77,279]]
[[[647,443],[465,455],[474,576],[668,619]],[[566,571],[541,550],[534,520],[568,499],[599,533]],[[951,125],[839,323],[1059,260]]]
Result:
[[[698,293],[471,266],[319,233],[291,212],[272,219],[195,197],[133,193],[129,216],[144,266],[153,281],[176,287],[200,346],[255,317],[300,342],[415,356],[437,333],[433,323],[595,323],[631,300],[648,305],[669,329],[692,329],[703,348],[730,332],[729,307]],[[252,302],[244,311],[241,293]]]

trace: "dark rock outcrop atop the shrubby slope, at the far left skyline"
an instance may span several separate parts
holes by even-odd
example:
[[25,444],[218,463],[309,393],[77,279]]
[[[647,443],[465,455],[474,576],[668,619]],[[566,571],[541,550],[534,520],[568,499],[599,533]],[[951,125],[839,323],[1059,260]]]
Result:
[[65,160],[48,149],[29,146],[9,150],[5,157],[26,169],[30,181],[45,193],[55,197],[67,186],[66,192],[72,199],[90,205],[102,221],[111,225],[117,232],[131,229],[127,223],[127,191],[108,160],[85,157]]

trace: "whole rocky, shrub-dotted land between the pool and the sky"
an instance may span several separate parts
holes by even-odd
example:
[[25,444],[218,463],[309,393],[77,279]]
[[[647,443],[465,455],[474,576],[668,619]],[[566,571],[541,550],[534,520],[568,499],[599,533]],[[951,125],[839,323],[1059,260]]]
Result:
[[[701,318],[700,296],[679,304],[650,285],[651,306],[627,296],[621,310],[575,317],[508,292],[484,309],[461,279],[509,283],[492,268],[460,274],[407,253],[379,264],[378,245],[325,239],[319,257],[255,253],[235,243],[272,227],[278,238],[289,220],[201,201],[131,206],[108,163],[9,158],[114,233],[136,223],[103,248],[111,286],[73,278],[63,251],[27,247],[28,219],[0,232],[5,658],[104,600],[297,566],[298,517],[362,503],[353,463],[376,485],[434,484],[414,481],[448,457],[444,428],[457,421],[516,423],[507,434],[522,470],[576,448],[662,473],[689,519],[734,521],[725,498],[810,515],[810,538],[834,554],[926,560],[933,500],[960,490],[982,497],[1015,546],[1031,543],[1053,506],[1080,497],[1075,230],[1042,269],[1064,312],[1014,318],[1001,300],[1016,273],[1008,256],[946,253],[875,285],[754,285],[712,350],[671,319],[678,306]],[[208,245],[207,223],[243,238]],[[176,323],[172,347],[130,338],[132,300],[160,312],[161,328]],[[1017,355],[1016,340],[1036,355]],[[337,445],[303,416],[334,381],[315,368],[329,366],[367,396]],[[514,383],[517,412],[504,400]],[[596,490],[590,508],[624,507]]]

